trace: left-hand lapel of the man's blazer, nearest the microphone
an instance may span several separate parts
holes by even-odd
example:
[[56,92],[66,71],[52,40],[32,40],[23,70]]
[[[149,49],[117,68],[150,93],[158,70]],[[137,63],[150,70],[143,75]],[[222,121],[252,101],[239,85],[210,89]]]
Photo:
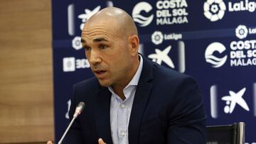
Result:
[[110,131],[110,97],[111,93],[107,87],[102,87],[95,96],[95,126],[97,135],[105,143],[112,144]]

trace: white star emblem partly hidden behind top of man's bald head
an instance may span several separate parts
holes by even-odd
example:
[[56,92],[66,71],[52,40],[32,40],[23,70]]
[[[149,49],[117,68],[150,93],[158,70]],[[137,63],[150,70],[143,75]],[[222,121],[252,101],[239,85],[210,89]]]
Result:
[[82,23],[80,24],[80,30],[82,30],[82,28],[85,26],[86,21],[88,21],[88,19],[98,11],[100,11],[100,6],[97,6],[92,11],[90,11],[90,9],[85,9],[85,13],[78,15],[78,18],[82,20]]

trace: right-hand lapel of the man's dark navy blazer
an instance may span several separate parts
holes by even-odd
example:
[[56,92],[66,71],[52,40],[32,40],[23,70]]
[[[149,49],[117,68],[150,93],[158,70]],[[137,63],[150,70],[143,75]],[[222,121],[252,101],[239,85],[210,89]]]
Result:
[[129,119],[129,143],[132,144],[139,143],[139,129],[142,122],[142,116],[152,87],[150,81],[153,79],[153,66],[151,62],[144,57],[143,61],[142,74],[139,78]]

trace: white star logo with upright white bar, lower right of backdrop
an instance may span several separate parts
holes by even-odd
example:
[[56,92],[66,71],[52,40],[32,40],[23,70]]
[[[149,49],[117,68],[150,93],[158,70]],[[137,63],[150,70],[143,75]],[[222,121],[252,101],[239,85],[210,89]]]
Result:
[[[253,101],[253,106],[248,105],[248,101],[256,98],[256,87],[252,84],[252,94],[247,92],[247,87],[240,87],[240,89],[223,89],[223,87],[214,84],[210,87],[210,116],[218,118],[219,113],[232,115],[235,111],[240,113],[250,113],[256,117],[256,101]],[[219,89],[223,91],[220,92]]]

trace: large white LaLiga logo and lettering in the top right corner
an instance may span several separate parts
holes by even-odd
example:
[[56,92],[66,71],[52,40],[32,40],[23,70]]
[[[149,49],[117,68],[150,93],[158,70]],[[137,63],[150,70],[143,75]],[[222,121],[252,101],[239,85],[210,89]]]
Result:
[[256,1],[223,1],[223,0],[206,0],[203,4],[204,16],[210,21],[220,21],[225,13],[247,11],[255,12]]

